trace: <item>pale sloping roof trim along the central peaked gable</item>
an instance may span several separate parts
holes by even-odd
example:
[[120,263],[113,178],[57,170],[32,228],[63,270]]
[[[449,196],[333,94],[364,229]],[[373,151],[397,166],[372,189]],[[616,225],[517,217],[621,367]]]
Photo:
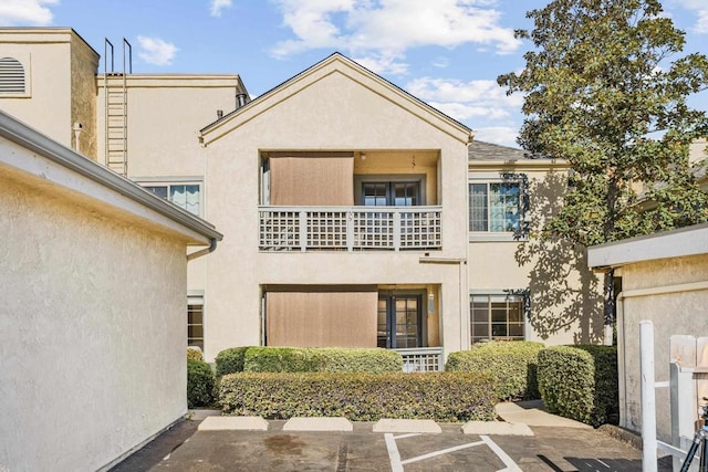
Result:
[[[355,61],[335,52],[311,67],[302,71],[298,75],[294,75],[274,88],[271,88],[259,97],[252,99],[240,108],[235,109],[221,119],[218,119],[200,129],[200,143],[204,146],[207,146],[232,129],[275,106],[280,102],[316,83],[334,71],[343,73],[347,77],[373,90],[382,96],[386,96],[387,98],[392,97],[392,102],[419,118],[427,120],[430,125],[437,127],[444,133],[447,133],[465,143],[469,143],[471,140],[472,130],[466,125],[449,117],[439,109],[434,108]],[[364,82],[366,82],[366,84],[364,84]]]

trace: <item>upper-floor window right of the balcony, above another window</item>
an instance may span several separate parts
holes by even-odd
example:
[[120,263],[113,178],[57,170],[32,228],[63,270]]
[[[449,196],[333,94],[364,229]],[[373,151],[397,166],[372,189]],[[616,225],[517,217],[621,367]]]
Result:
[[519,181],[469,185],[469,230],[475,232],[521,231],[521,183]]

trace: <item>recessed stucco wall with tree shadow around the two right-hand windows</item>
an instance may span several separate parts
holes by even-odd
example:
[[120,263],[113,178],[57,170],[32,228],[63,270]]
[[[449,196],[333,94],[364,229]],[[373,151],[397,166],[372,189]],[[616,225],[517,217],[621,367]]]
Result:
[[[529,185],[530,225],[525,241],[470,235],[469,287],[475,293],[529,290],[525,338],[546,345],[597,343],[602,338],[602,284],[587,269],[583,248],[541,240],[543,223],[562,203],[568,177],[555,164],[523,162],[496,169],[475,162],[470,177],[523,174]],[[497,238],[499,239],[499,238]]]

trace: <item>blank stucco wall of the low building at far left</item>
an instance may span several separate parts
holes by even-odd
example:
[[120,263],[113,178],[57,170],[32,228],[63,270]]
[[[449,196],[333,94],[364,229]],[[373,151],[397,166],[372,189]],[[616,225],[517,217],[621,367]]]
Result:
[[183,241],[0,169],[0,469],[96,470],[186,411]]

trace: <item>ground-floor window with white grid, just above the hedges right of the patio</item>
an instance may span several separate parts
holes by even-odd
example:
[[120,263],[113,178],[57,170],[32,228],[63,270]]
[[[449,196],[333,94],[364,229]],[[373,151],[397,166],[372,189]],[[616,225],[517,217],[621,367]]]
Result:
[[524,339],[522,295],[472,295],[471,342]]

